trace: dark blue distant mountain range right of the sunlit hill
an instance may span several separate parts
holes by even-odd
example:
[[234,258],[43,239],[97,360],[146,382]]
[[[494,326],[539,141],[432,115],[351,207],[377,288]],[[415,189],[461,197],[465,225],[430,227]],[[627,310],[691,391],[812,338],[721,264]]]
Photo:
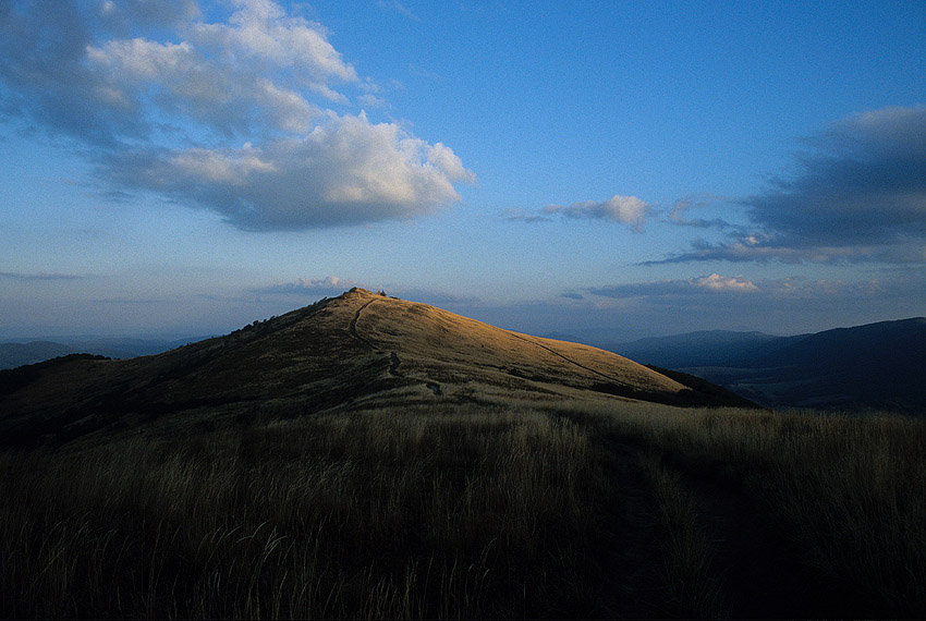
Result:
[[926,413],[926,317],[795,337],[689,332],[605,349],[764,405]]

